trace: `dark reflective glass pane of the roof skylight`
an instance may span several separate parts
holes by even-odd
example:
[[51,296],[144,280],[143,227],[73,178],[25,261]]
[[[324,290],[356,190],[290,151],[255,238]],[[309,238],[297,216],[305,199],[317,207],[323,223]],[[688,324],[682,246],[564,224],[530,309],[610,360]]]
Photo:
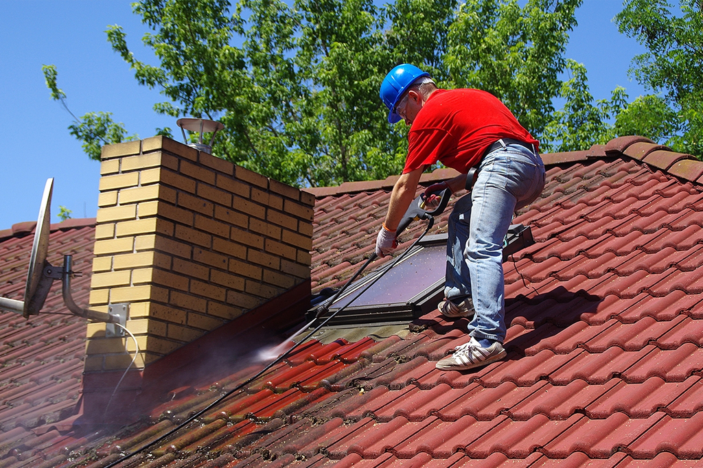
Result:
[[[446,245],[424,247],[385,273],[350,306],[406,304],[420,292],[443,280],[445,273]],[[356,288],[350,289],[354,292],[335,302],[331,308],[341,308],[359,294]]]

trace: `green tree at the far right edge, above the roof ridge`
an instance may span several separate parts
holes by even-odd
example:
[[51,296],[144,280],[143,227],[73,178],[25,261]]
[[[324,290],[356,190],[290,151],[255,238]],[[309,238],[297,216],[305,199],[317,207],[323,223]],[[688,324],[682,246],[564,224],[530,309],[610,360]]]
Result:
[[[703,4],[680,0],[680,12],[666,0],[626,0],[615,17],[620,32],[647,52],[633,59],[631,73],[645,89],[633,107],[636,118],[651,121],[654,136],[673,150],[703,156]],[[633,110],[618,125],[633,124]],[[674,117],[676,116],[676,117]],[[662,125],[657,125],[657,119]]]

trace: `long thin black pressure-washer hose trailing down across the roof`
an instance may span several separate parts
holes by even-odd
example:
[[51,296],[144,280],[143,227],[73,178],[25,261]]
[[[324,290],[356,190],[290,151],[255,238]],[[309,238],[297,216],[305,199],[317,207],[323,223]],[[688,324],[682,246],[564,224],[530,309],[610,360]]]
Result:
[[[428,220],[428,223],[427,223],[427,228],[425,228],[425,232],[422,233],[422,234],[420,235],[420,237],[418,237],[418,238],[415,240],[415,242],[413,242],[413,244],[412,244],[410,247],[408,247],[402,254],[400,254],[399,256],[397,256],[396,259],[394,259],[394,260],[392,261],[391,265],[394,266],[395,264],[399,263],[399,261],[401,261],[401,259],[404,259],[404,257],[408,254],[408,252],[411,252],[411,250],[413,249],[413,247],[415,247],[415,245],[417,245],[418,242],[420,242],[420,240],[421,240],[422,238],[424,238],[425,235],[427,235],[427,233],[430,231],[430,229],[432,228],[432,226],[434,226],[434,218],[433,218],[432,216],[430,216],[430,218],[429,218],[429,220]],[[366,261],[366,263],[363,264],[362,268],[360,268],[359,271],[357,271],[356,274],[355,274],[354,276],[352,276],[352,278],[347,282],[346,285],[344,285],[344,286],[342,287],[342,289],[346,288],[347,285],[349,285],[349,283],[351,283],[352,280],[354,280],[354,279],[361,273],[361,271],[363,271],[363,268],[366,268],[366,266],[367,266],[367,265],[370,263],[370,261],[373,260],[374,258],[375,258],[375,257],[372,256],[368,261]],[[389,268],[390,268],[390,267],[389,267]],[[387,268],[385,271],[388,271],[389,268]],[[384,271],[384,273],[385,273],[385,271]],[[134,450],[134,452],[132,452],[132,453],[129,453],[129,454],[127,454],[127,455],[123,455],[122,457],[120,457],[119,459],[115,460],[114,462],[112,462],[112,463],[106,465],[105,468],[112,468],[112,467],[115,467],[117,464],[120,464],[120,463],[122,463],[122,462],[124,462],[124,461],[129,460],[131,457],[134,457],[134,455],[137,455],[138,453],[143,452],[143,451],[146,450],[147,448],[150,448],[150,447],[152,447],[152,446],[155,446],[157,443],[160,443],[160,442],[164,441],[166,438],[169,438],[170,436],[172,436],[173,434],[175,434],[175,433],[178,432],[179,430],[183,429],[183,427],[186,427],[187,424],[190,424],[191,422],[193,422],[193,421],[195,421],[196,419],[198,419],[198,417],[200,417],[201,415],[205,414],[205,412],[211,410],[211,409],[214,408],[216,405],[219,405],[219,403],[221,403],[221,402],[224,401],[226,398],[228,398],[229,396],[231,396],[232,394],[234,394],[236,391],[239,391],[239,390],[243,389],[245,386],[247,386],[248,384],[254,382],[254,380],[258,379],[259,377],[261,377],[262,375],[264,375],[266,372],[268,372],[271,368],[273,368],[274,365],[280,363],[280,361],[282,361],[283,359],[287,358],[287,357],[290,355],[290,353],[292,353],[293,351],[295,351],[295,349],[298,348],[298,346],[300,346],[300,345],[303,344],[304,342],[307,342],[308,339],[310,339],[311,337],[313,337],[314,334],[316,334],[323,326],[325,326],[330,320],[332,320],[333,318],[335,318],[335,316],[337,316],[338,313],[340,313],[341,311],[343,311],[345,308],[347,308],[347,306],[349,306],[349,305],[352,304],[356,299],[358,299],[359,296],[361,296],[361,294],[363,294],[364,292],[366,292],[366,290],[368,290],[368,288],[370,288],[371,286],[373,286],[373,285],[375,284],[375,282],[377,282],[378,280],[380,280],[381,277],[382,277],[382,274],[381,274],[381,275],[378,275],[376,278],[374,278],[374,280],[371,281],[368,285],[366,285],[366,287],[363,287],[363,290],[361,290],[361,292],[359,292],[359,294],[357,294],[357,295],[354,297],[354,299],[352,299],[351,301],[347,302],[347,304],[344,304],[344,306],[338,308],[338,309],[337,309],[336,311],[334,311],[330,316],[326,317],[325,320],[323,320],[323,321],[320,323],[320,325],[318,325],[314,330],[312,330],[311,332],[309,332],[306,337],[304,337],[304,338],[301,339],[299,342],[297,342],[296,344],[294,344],[293,346],[291,346],[290,349],[288,349],[288,351],[285,351],[285,353],[283,353],[283,354],[281,354],[280,356],[278,356],[278,358],[276,358],[275,360],[273,360],[269,365],[266,365],[266,367],[264,367],[262,370],[259,370],[259,372],[257,372],[256,375],[250,377],[249,379],[245,380],[245,382],[242,382],[241,384],[238,384],[238,385],[237,385],[236,387],[234,387],[233,389],[227,391],[226,394],[220,396],[219,398],[217,398],[217,399],[216,399],[215,401],[213,401],[212,403],[209,403],[209,405],[207,405],[205,408],[202,408],[202,410],[199,410],[198,412],[195,412],[194,415],[191,415],[190,417],[188,417],[188,419],[186,419],[185,421],[181,422],[181,424],[179,424],[178,426],[174,427],[173,429],[171,429],[170,431],[168,431],[166,434],[163,434],[162,436],[160,436],[160,437],[156,438],[155,440],[153,440],[153,441],[147,443],[146,445],[144,445],[144,446],[138,448],[137,450]],[[135,355],[135,356],[136,356],[136,355]],[[118,384],[118,385],[119,385],[119,384]]]

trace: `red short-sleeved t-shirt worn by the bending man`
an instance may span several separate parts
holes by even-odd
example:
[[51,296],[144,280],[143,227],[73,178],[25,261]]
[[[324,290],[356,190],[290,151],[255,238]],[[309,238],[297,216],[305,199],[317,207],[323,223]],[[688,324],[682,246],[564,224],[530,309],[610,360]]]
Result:
[[415,117],[408,134],[403,174],[439,161],[462,174],[501,138],[539,142],[496,96],[479,89],[438,89]]

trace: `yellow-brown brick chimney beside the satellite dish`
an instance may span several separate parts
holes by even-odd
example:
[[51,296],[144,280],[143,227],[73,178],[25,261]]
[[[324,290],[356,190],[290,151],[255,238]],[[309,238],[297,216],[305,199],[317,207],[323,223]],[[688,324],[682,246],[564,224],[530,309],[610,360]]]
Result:
[[[103,148],[90,306],[129,304],[136,368],[309,281],[314,196],[157,136]],[[86,372],[128,338],[87,330]],[[125,352],[127,346],[127,352]]]

